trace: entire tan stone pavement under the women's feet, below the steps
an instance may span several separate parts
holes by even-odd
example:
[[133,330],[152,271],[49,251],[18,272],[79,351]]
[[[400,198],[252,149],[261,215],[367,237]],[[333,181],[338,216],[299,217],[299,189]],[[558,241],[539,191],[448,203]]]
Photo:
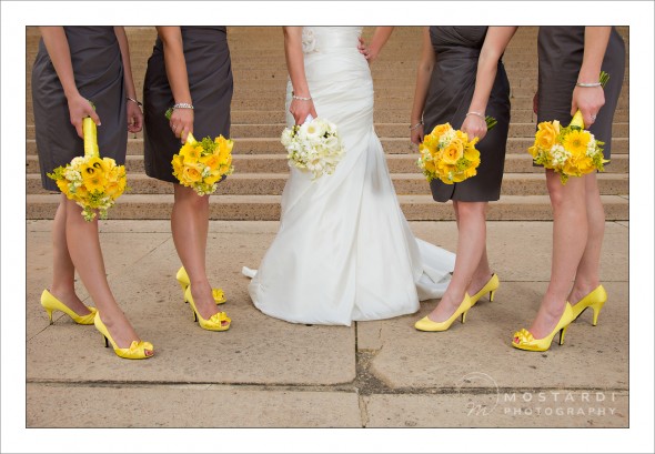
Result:
[[[454,222],[410,225],[416,236],[456,250]],[[502,286],[493,303],[483,299],[465,324],[445,333],[413,327],[437,301],[414,315],[352,327],[264,316],[241,266],[258,266],[278,226],[210,222],[208,272],[233,319],[230,331],[211,333],[182,301],[169,221],[102,222],[110,284],[157,350],[151,360],[125,361],[103,347],[93,326],[66,315],[48,325],[38,299],[50,283],[51,221],[28,221],[27,426],[628,426],[628,222],[606,224],[601,275],[609,300],[598,326],[585,313],[563,346],[543,354],[514,350],[510,339],[531,322],[547,285],[550,222],[488,223]],[[567,393],[570,401],[555,401]],[[80,395],[92,397],[80,405]]]

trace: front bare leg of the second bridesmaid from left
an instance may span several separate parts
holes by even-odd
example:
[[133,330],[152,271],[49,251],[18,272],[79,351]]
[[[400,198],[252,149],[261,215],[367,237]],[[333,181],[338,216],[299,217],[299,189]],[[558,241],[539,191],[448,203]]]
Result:
[[173,242],[189,274],[195,307],[203,319],[210,319],[220,311],[216,311],[205,269],[209,195],[200,196],[193,189],[181,184],[175,184],[174,191],[175,202],[171,214]]

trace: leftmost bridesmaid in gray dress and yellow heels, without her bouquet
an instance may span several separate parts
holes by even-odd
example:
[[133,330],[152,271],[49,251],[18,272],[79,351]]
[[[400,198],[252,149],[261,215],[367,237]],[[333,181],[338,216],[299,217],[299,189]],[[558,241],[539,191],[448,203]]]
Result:
[[[41,37],[32,70],[37,148],[43,188],[59,191],[47,173],[84,154],[84,117],[99,127],[102,119],[100,152],[123,164],[128,131],[140,131],[143,115],[122,27],[42,27]],[[52,312],[61,311],[78,324],[95,324],[105,345],[109,340],[120,357],[149,357],[152,344],[139,339],[109,287],[98,218],[87,222],[81,211],[75,202],[60,195],[52,224],[52,285],[41,294],[41,305],[51,323]],[[85,306],[75,294],[75,271],[98,310]]]

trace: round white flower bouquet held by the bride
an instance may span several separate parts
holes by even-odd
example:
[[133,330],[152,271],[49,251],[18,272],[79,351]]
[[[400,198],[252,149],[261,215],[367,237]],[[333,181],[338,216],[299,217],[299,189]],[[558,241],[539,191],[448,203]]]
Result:
[[303,124],[285,128],[281,142],[289,153],[289,164],[311,172],[312,180],[332,174],[344,154],[336,125],[311,115]]

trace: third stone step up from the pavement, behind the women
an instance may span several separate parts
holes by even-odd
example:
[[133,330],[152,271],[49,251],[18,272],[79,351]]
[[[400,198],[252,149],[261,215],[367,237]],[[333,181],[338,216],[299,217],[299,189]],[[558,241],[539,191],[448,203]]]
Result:
[[[386,154],[386,165],[391,173],[417,172],[417,153]],[[289,165],[283,153],[278,154],[235,154],[234,169],[238,173],[288,173]],[[129,154],[125,159],[128,173],[144,173],[143,157]],[[605,167],[606,173],[628,173],[629,155],[615,154],[612,165]],[[27,157],[27,173],[39,173],[39,157]],[[525,154],[507,154],[505,157],[505,173],[543,173],[538,167],[532,165],[532,157]]]

